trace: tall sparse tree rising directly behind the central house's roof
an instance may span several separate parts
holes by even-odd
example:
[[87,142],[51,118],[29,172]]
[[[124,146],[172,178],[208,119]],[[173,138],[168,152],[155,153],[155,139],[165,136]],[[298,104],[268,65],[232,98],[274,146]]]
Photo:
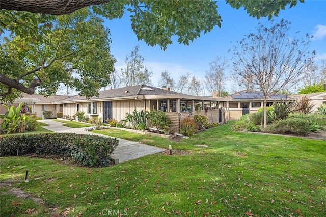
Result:
[[150,76],[153,72],[148,71],[146,66],[143,66],[144,57],[139,53],[139,45],[134,47],[131,55],[127,55],[125,63],[126,68],[121,69],[121,82],[126,86],[134,85],[151,85]]

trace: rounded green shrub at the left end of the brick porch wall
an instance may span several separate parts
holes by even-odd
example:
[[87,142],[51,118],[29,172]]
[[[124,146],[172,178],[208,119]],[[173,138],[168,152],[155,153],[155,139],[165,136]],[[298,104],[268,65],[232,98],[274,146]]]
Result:
[[165,112],[152,110],[148,113],[149,123],[157,130],[170,132],[172,122],[169,120]]

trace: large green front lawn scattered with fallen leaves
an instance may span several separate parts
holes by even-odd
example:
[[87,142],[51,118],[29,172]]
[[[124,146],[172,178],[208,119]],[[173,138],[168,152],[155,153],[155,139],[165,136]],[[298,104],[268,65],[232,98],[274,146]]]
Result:
[[[0,158],[0,180],[45,204],[20,200],[2,188],[0,216],[325,216],[326,141],[259,135],[223,125],[180,142],[117,129],[99,133],[191,154],[154,154],[108,168],[81,168],[58,160]],[[208,147],[197,147],[205,144]],[[18,205],[17,205],[18,204]],[[30,214],[33,214],[30,213]],[[114,216],[117,216],[114,215]]]

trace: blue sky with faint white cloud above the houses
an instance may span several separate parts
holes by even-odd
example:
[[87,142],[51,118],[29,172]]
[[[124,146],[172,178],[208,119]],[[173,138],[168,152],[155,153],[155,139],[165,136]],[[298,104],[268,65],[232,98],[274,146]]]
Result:
[[[144,41],[138,41],[131,29],[129,16],[105,21],[105,25],[111,30],[111,52],[117,59],[116,69],[120,72],[120,69],[125,66],[126,55],[139,45],[139,53],[145,58],[144,65],[153,72],[151,80],[155,87],[158,87],[160,74],[165,70],[168,70],[175,80],[186,72],[203,80],[210,62],[216,57],[230,58],[232,53],[228,50],[236,44],[236,41],[254,31],[258,22],[264,25],[270,23],[268,18],[257,20],[249,17],[243,8],[233,9],[224,1],[218,1],[218,6],[218,12],[223,20],[221,28],[215,26],[211,32],[202,34],[189,45],[179,44],[175,39],[165,51],[158,46],[151,47]],[[283,18],[291,22],[289,36],[292,34],[296,38],[301,38],[306,33],[314,35],[310,50],[316,51],[315,60],[320,62],[321,59],[326,59],[325,14],[325,0],[306,0],[305,3],[298,3],[295,7],[282,10],[274,19],[279,21]],[[294,34],[297,31],[300,33]],[[226,89],[229,92],[239,90],[232,81],[227,83]]]

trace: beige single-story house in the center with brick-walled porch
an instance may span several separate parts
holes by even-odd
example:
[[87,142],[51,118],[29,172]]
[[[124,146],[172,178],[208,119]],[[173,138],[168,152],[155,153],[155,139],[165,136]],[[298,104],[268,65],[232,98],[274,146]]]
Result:
[[225,122],[222,111],[217,109],[224,99],[192,96],[170,91],[169,88],[155,88],[137,85],[117,89],[104,90],[98,97],[87,99],[84,96],[72,96],[56,101],[63,104],[63,115],[73,117],[77,111],[84,111],[89,118],[123,120],[127,113],[136,109],[165,111],[173,122],[173,130],[179,132],[180,121],[196,114],[206,115],[209,122]]

